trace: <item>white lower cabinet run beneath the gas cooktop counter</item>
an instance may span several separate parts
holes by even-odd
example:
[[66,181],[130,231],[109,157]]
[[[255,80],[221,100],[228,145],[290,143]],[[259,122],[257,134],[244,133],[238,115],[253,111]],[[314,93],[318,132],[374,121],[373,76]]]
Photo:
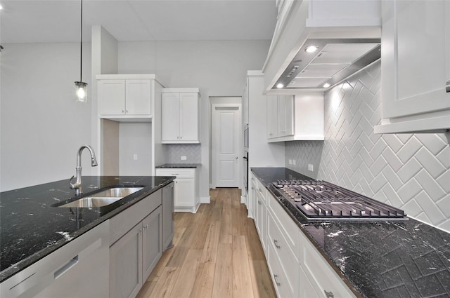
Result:
[[[328,264],[300,227],[252,175],[251,181],[255,208],[264,206],[262,213],[255,212],[255,225],[266,254],[272,282],[279,298],[356,297],[338,273]],[[259,188],[262,187],[261,191]],[[266,200],[263,200],[265,194]],[[264,205],[263,205],[264,203]],[[261,210],[263,210],[261,208]],[[263,211],[262,211],[263,212]]]

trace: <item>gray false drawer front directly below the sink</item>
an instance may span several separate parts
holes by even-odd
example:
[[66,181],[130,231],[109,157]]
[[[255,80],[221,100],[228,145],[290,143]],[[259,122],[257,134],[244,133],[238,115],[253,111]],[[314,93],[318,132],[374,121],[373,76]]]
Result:
[[110,219],[110,245],[124,236],[150,212],[158,208],[162,203],[162,191],[158,189],[153,194],[132,205],[127,210],[120,212]]

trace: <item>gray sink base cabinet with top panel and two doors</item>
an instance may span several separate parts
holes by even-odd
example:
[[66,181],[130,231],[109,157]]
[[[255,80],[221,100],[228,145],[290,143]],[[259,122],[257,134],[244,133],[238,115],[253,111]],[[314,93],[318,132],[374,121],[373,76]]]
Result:
[[162,255],[162,191],[110,219],[110,297],[136,297]]

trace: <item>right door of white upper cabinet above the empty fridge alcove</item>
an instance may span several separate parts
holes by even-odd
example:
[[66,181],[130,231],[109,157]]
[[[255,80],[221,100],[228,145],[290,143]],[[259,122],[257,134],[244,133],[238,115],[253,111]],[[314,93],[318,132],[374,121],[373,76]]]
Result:
[[151,115],[150,80],[126,81],[126,113],[130,115]]

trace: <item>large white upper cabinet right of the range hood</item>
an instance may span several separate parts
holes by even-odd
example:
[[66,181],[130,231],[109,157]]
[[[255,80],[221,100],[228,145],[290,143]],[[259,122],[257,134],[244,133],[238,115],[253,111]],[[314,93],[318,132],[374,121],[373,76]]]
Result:
[[449,129],[450,1],[383,1],[381,50],[383,119],[375,133]]

